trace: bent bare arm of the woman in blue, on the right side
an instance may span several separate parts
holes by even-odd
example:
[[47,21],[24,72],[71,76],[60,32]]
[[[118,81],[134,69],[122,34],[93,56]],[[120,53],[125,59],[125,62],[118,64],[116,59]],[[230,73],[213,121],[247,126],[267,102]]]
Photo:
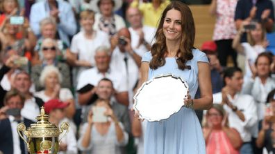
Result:
[[205,62],[198,62],[199,68],[199,88],[201,91],[201,98],[194,99],[194,109],[208,110],[213,104],[213,94],[210,78],[210,66]]

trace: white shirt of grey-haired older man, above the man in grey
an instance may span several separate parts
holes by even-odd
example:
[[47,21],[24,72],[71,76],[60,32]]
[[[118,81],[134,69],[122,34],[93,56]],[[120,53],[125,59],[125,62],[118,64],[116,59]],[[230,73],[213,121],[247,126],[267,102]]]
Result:
[[87,84],[92,84],[97,86],[99,81],[104,77],[113,81],[113,86],[117,92],[121,93],[127,91],[126,77],[115,70],[109,69],[104,75],[99,73],[97,67],[90,68],[88,70],[83,70],[78,78],[78,84],[76,90],[80,90]]

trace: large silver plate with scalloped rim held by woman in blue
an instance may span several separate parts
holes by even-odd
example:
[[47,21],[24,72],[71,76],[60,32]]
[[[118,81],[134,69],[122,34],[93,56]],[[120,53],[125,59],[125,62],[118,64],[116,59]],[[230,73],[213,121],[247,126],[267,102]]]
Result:
[[177,113],[187,97],[188,84],[175,75],[160,75],[146,81],[133,97],[133,109],[141,119],[160,121]]

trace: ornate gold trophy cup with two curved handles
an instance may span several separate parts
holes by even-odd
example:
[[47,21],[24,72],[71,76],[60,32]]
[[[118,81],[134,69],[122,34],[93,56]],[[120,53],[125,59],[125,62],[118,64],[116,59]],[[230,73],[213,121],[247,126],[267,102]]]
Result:
[[[28,152],[31,154],[58,153],[58,145],[69,131],[69,123],[63,122],[59,130],[56,125],[49,122],[49,116],[45,114],[44,107],[41,108],[41,113],[36,119],[38,122],[31,124],[28,131],[26,131],[26,126],[23,123],[17,125],[17,133],[27,144]],[[59,135],[65,130],[65,134],[58,141]],[[26,135],[27,139],[23,137],[21,132]]]

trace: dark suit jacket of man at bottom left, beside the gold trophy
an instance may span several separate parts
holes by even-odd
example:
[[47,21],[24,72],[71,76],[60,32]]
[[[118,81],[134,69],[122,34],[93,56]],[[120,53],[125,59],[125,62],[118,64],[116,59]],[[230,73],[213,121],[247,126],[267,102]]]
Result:
[[[24,124],[26,125],[26,128],[31,126],[32,123],[34,122],[30,119],[24,118]],[[3,154],[13,153],[12,128],[10,119],[8,118],[0,120],[0,151],[2,151]]]

